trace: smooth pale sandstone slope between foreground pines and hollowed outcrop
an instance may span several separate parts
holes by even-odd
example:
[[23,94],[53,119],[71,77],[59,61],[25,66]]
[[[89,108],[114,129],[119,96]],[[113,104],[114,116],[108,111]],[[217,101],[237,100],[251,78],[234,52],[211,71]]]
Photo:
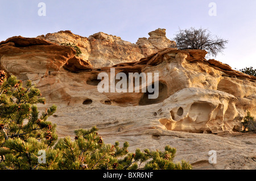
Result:
[[[158,121],[163,116],[161,108],[166,103],[119,107],[92,102],[59,108],[49,120],[57,124],[60,137],[68,135],[74,138],[75,129],[89,129],[97,125],[106,143],[119,141],[122,145],[128,141],[129,151],[137,148],[163,150],[164,146],[170,145],[177,149],[174,161],[189,161],[193,169],[256,169],[255,133],[169,131]],[[216,150],[217,163],[209,163],[210,150]]]

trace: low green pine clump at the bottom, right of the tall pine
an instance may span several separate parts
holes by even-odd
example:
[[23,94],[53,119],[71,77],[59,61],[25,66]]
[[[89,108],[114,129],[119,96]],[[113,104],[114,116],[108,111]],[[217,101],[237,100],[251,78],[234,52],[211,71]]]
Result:
[[128,153],[129,144],[125,142],[123,148],[119,148],[118,142],[105,144],[97,130],[96,127],[76,130],[75,141],[70,137],[61,138],[54,148],[63,153],[58,169],[115,169],[118,157]]

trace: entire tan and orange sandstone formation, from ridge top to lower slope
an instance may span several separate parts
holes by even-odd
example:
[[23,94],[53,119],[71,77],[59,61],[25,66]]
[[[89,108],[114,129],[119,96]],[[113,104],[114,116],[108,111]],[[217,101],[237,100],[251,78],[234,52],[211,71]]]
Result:
[[[197,169],[255,169],[254,134],[245,141],[239,132],[246,111],[256,117],[256,77],[206,60],[205,50],[176,49],[164,29],[148,35],[136,44],[102,32],[88,38],[71,31],[15,36],[0,43],[0,68],[36,83],[47,107],[57,104],[50,120],[60,137],[97,125],[106,142],[129,141],[131,150],[170,144],[177,148],[177,159]],[[81,56],[61,43],[75,43]],[[139,92],[99,92],[98,74],[111,77],[113,69],[127,77],[158,73],[151,82],[159,85],[158,98],[149,99],[144,85]],[[209,164],[212,149],[223,162]]]

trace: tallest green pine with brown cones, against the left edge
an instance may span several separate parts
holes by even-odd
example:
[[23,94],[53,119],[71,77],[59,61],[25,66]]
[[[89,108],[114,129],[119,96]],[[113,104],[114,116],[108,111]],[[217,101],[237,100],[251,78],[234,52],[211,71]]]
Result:
[[42,94],[31,81],[23,87],[14,75],[7,79],[3,70],[0,80],[0,162],[5,159],[10,169],[32,169],[35,151],[57,140],[56,125],[47,121],[56,106],[39,116],[36,104],[46,100],[40,98]]

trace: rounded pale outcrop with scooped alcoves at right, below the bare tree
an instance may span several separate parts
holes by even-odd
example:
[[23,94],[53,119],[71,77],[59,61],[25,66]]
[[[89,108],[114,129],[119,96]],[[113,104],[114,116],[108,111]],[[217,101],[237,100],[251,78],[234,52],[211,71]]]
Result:
[[[241,130],[241,119],[236,109],[237,98],[226,92],[188,88],[164,100],[159,119],[168,130],[195,133],[220,133]],[[238,117],[237,117],[238,116]]]

